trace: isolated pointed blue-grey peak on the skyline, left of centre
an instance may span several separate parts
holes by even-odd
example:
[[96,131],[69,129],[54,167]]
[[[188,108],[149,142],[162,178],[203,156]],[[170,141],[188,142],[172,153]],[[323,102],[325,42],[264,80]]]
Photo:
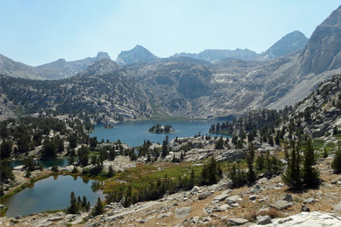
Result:
[[136,62],[152,62],[158,60],[149,50],[141,45],[136,45],[131,50],[122,51],[117,56],[116,62],[119,65],[131,65]]

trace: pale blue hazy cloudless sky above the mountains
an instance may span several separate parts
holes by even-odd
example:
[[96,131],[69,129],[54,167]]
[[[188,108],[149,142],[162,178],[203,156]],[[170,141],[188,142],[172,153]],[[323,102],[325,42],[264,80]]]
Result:
[[0,0],[0,53],[28,65],[143,45],[158,57],[205,49],[262,52],[291,31],[310,37],[337,0]]

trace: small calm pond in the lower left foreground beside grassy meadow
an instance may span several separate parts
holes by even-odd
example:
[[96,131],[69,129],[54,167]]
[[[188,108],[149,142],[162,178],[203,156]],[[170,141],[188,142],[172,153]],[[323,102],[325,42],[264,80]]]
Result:
[[99,180],[87,177],[51,176],[26,187],[23,191],[1,199],[1,204],[9,206],[6,216],[26,216],[48,210],[61,210],[70,205],[70,193],[82,199],[87,197],[94,206],[97,197],[104,199],[104,194],[98,190]]

